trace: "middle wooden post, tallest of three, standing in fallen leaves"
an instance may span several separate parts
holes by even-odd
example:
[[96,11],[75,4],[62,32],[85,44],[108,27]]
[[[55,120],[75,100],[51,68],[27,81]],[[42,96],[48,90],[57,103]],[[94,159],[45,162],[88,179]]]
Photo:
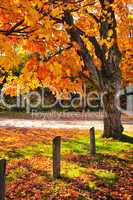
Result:
[[53,177],[60,178],[60,146],[61,137],[57,136],[53,139]]

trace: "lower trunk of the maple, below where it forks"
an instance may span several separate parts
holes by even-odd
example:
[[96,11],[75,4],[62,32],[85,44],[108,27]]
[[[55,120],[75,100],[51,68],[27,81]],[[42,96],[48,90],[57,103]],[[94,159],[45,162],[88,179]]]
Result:
[[116,91],[106,92],[103,96],[104,132],[103,137],[120,139],[123,132],[121,112],[117,108]]

